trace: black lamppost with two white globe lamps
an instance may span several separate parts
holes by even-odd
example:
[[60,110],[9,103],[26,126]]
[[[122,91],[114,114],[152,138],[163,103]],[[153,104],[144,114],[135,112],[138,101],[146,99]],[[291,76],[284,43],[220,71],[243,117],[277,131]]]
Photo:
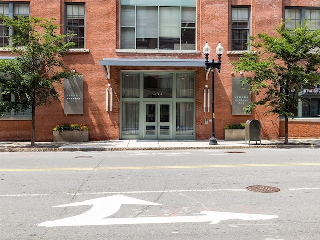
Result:
[[214,68],[217,68],[218,71],[221,71],[221,56],[223,54],[224,48],[221,45],[221,42],[218,44],[218,46],[215,49],[216,54],[218,55],[218,61],[214,61],[212,59],[212,62],[208,61],[210,52],[211,52],[211,47],[209,47],[208,42],[205,43],[205,46],[203,47],[203,53],[205,55],[205,72],[207,72],[211,68],[211,75],[212,75],[212,106],[211,106],[211,111],[212,111],[212,134],[210,138],[210,145],[217,145],[217,141],[215,138],[215,133],[214,133]]

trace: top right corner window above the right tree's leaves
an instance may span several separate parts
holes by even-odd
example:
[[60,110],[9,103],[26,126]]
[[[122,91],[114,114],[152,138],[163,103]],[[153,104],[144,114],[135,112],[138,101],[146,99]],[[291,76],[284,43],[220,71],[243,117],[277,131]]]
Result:
[[285,9],[285,28],[293,29],[302,25],[305,20],[312,22],[310,30],[320,29],[320,8],[287,8]]

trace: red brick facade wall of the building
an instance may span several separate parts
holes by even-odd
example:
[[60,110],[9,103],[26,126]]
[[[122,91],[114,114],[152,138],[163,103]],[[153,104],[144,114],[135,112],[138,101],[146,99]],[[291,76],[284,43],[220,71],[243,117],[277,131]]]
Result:
[[[2,1],[2,0],[1,0]],[[0,2],[1,2],[0,1]],[[23,0],[12,0],[11,2]],[[7,2],[7,1],[5,1]],[[195,139],[206,140],[211,135],[211,112],[203,112],[203,89],[211,88],[211,76],[205,80],[204,55],[202,47],[206,41],[210,43],[212,54],[217,60],[214,48],[219,41],[224,46],[221,72],[215,72],[215,135],[224,139],[223,127],[228,123],[244,123],[248,119],[261,122],[263,139],[277,139],[283,136],[283,122],[274,115],[265,116],[264,107],[258,107],[250,116],[233,116],[232,103],[232,65],[238,59],[237,54],[227,52],[230,49],[231,6],[251,6],[251,34],[267,32],[275,34],[274,28],[284,18],[285,6],[318,6],[314,0],[198,0],[197,1],[197,38],[196,50],[192,53],[130,53],[117,52],[119,49],[119,11],[120,0],[29,0],[30,15],[44,18],[56,18],[56,23],[64,24],[64,6],[67,2],[84,2],[86,11],[85,48],[89,52],[70,52],[65,63],[84,76],[84,114],[64,114],[63,85],[56,86],[60,93],[60,101],[48,107],[36,108],[36,141],[52,141],[52,128],[63,123],[85,124],[89,127],[89,140],[115,140],[120,137],[120,70],[145,71],[195,71]],[[64,28],[61,27],[61,33]],[[0,56],[10,53],[0,51]],[[103,58],[149,58],[149,59],[203,59],[203,67],[124,67],[111,66],[110,79],[99,61]],[[211,74],[211,73],[210,73]],[[238,73],[233,75],[239,77]],[[107,112],[105,89],[111,84],[113,89],[113,111]],[[252,100],[254,100],[252,98]],[[320,137],[320,121],[290,122],[289,137]],[[316,129],[316,130],[315,130]],[[1,120],[0,140],[29,140],[31,138],[31,120]]]

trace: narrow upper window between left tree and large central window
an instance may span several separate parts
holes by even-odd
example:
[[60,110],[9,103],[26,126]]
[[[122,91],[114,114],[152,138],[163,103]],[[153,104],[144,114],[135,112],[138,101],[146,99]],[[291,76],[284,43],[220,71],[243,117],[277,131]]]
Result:
[[84,48],[85,36],[85,6],[84,5],[66,5],[66,32],[73,32],[75,36],[71,41],[75,43],[74,48]]

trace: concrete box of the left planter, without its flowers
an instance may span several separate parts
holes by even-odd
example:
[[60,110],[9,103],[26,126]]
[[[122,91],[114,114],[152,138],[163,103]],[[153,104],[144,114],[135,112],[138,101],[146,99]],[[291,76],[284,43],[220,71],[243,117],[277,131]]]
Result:
[[89,131],[53,131],[54,142],[89,141]]

